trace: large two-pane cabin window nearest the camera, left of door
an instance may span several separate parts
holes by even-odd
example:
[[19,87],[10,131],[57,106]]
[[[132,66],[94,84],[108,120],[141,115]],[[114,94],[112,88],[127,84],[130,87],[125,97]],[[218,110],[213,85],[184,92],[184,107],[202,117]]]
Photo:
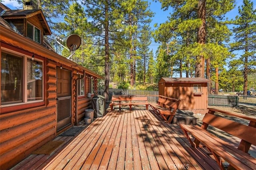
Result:
[[1,106],[43,101],[43,63],[1,53]]

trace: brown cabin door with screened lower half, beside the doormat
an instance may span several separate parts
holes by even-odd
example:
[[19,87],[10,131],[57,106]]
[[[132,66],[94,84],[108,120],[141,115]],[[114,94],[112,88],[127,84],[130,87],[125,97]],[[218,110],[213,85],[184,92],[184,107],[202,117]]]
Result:
[[57,131],[71,124],[71,72],[57,67]]

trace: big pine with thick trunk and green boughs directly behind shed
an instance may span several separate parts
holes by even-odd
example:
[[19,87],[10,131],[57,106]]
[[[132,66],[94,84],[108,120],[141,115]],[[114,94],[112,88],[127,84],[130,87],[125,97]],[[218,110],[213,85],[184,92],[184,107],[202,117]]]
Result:
[[[209,56],[205,55],[208,50],[206,40],[210,33],[207,30],[209,26],[208,21],[210,18],[219,19],[226,14],[226,12],[230,11],[233,8],[234,0],[216,0],[207,1],[207,3],[206,0],[159,1],[162,3],[164,10],[168,10],[168,8],[172,7],[174,11],[173,14],[171,14],[169,23],[166,23],[166,25],[168,24],[167,26],[171,28],[171,31],[167,33],[175,35],[175,33],[173,33],[175,31],[178,36],[182,37],[182,40],[186,40],[181,41],[182,47],[180,49],[191,50],[184,51],[183,53],[190,54],[190,56],[193,54],[196,61],[195,76],[204,77],[205,59],[209,58]],[[189,63],[186,63],[186,66],[188,65]],[[182,64],[180,64],[180,66],[182,66]]]

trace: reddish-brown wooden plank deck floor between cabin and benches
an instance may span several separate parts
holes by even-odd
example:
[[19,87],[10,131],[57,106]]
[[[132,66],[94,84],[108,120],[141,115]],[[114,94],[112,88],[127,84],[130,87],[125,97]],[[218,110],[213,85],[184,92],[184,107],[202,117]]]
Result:
[[178,125],[152,110],[109,111],[52,155],[32,154],[13,169],[219,169],[204,149],[191,148]]

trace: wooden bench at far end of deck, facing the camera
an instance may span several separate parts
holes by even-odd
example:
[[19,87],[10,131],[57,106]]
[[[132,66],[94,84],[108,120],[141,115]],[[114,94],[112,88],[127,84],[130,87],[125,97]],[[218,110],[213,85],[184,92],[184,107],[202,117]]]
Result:
[[130,110],[133,105],[146,105],[146,109],[148,109],[148,98],[147,96],[112,96],[110,109],[113,110],[113,106],[119,106],[119,110],[121,110],[122,105],[129,105]]

